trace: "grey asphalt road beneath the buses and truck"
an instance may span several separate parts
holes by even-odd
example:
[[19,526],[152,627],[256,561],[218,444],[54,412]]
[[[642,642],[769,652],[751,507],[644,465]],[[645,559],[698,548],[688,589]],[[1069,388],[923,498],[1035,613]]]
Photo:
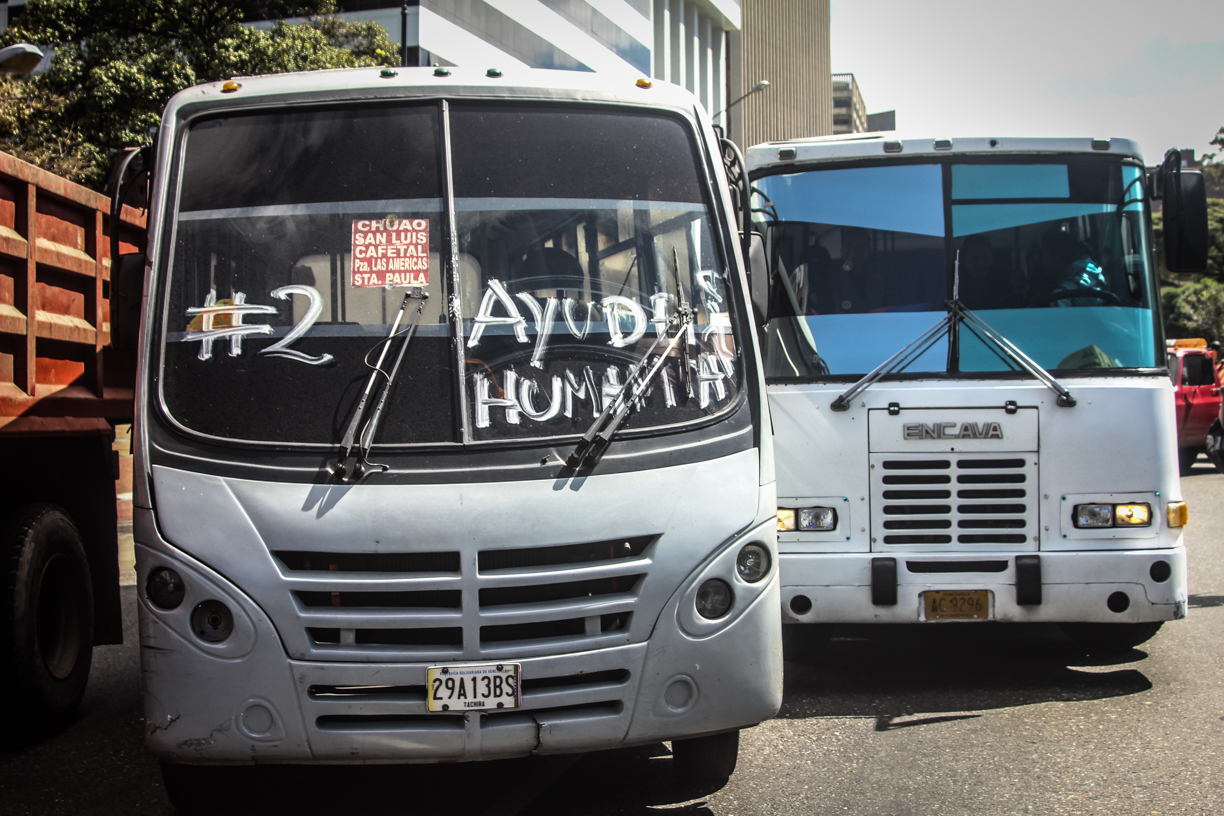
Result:
[[[1224,476],[1182,478],[1190,617],[1093,661],[1055,628],[847,629],[787,663],[777,719],[721,790],[682,790],[665,745],[543,761],[258,768],[224,811],[553,816],[1224,814]],[[141,746],[135,587],[78,721],[0,743],[0,814],[173,814]],[[526,803],[526,804],[524,804]]]

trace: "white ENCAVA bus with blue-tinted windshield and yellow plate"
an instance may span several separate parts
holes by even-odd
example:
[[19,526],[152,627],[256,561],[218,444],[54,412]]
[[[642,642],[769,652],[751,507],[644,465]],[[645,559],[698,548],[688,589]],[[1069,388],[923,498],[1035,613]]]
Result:
[[1151,212],[1190,270],[1206,210],[1170,153],[1149,172],[1122,139],[748,150],[796,648],[984,620],[1116,648],[1185,617]]

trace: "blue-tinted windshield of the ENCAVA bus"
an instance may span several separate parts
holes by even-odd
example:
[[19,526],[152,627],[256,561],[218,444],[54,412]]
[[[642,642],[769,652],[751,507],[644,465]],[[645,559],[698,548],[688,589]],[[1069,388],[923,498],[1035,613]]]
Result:
[[[1047,369],[1160,365],[1143,169],[1095,157],[812,169],[754,181],[771,378],[857,377],[953,296]],[[969,327],[905,373],[1017,366]]]

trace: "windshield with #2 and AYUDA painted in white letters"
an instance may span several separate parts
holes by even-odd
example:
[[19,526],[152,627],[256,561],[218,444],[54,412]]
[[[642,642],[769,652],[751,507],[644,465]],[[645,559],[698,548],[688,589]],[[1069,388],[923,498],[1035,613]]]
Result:
[[726,254],[679,119],[282,109],[196,121],[181,153],[160,377],[181,428],[337,444],[416,289],[376,444],[580,434],[685,306],[687,343],[643,369],[623,427],[737,401]]

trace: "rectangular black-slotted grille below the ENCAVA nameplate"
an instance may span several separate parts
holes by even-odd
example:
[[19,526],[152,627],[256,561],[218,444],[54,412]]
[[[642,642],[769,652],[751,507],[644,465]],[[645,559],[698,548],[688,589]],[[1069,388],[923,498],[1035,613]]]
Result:
[[871,548],[1036,549],[1037,454],[871,454]]

